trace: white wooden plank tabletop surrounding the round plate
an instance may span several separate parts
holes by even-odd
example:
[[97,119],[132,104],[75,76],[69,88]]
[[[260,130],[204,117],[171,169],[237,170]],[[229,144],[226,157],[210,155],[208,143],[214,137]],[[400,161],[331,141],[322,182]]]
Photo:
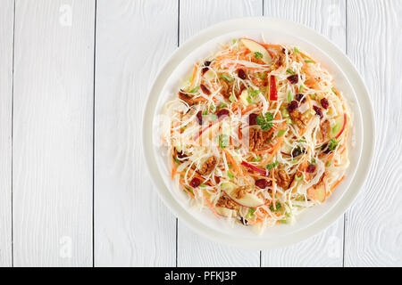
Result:
[[[147,91],[216,22],[294,20],[348,54],[376,120],[369,179],[329,229],[247,251],[164,207],[141,153]],[[1,0],[0,265],[402,265],[401,0]]]

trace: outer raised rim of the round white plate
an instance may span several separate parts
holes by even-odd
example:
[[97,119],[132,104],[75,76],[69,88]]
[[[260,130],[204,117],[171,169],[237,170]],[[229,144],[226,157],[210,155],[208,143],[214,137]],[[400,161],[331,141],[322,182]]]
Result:
[[[348,189],[345,191],[336,207],[331,208],[322,218],[314,221],[314,223],[306,226],[306,228],[301,229],[298,232],[295,232],[294,235],[272,238],[270,240],[252,240],[250,238],[236,238],[233,239],[227,233],[217,232],[211,227],[202,224],[197,221],[193,216],[189,215],[183,208],[181,208],[180,204],[174,197],[172,197],[172,193],[169,191],[167,186],[163,183],[163,179],[161,174],[156,166],[154,154],[152,151],[152,126],[153,119],[147,119],[146,117],[149,114],[155,113],[155,102],[159,97],[160,92],[163,89],[163,85],[169,77],[170,72],[172,71],[177,64],[180,63],[185,57],[186,54],[191,53],[194,49],[197,48],[198,45],[203,45],[205,42],[214,39],[214,37],[222,36],[226,33],[236,31],[239,29],[238,26],[242,26],[242,29],[247,28],[263,28],[262,25],[269,25],[272,23],[282,25],[294,29],[292,33],[295,33],[297,30],[300,33],[304,33],[307,40],[321,41],[320,49],[324,53],[331,54],[331,59],[336,62],[339,66],[339,69],[346,75],[350,85],[352,85],[356,96],[358,99],[364,97],[361,102],[359,100],[359,107],[362,114],[363,119],[363,142],[362,142],[362,152],[361,157],[359,159],[358,165],[356,167],[355,177],[352,179]],[[314,43],[316,44],[316,43]],[[335,60],[336,58],[336,60]],[[164,74],[163,74],[164,73]],[[162,83],[161,83],[162,82]],[[374,125],[374,115],[373,115],[373,106],[371,104],[370,96],[367,91],[366,86],[364,85],[364,80],[361,77],[359,71],[356,69],[354,64],[349,60],[348,55],[343,53],[338,46],[331,43],[331,41],[322,36],[322,34],[318,33],[312,28],[308,28],[302,24],[290,21],[283,20],[279,18],[271,18],[271,17],[247,17],[247,18],[239,18],[234,20],[226,20],[214,24],[209,28],[205,28],[197,33],[197,35],[190,37],[184,44],[180,45],[174,53],[170,56],[170,58],[163,64],[163,68],[158,71],[157,76],[155,77],[155,81],[152,87],[149,89],[147,102],[143,112],[143,123],[142,123],[142,148],[143,148],[143,157],[146,161],[148,173],[150,174],[151,182],[153,186],[156,188],[158,192],[158,196],[163,199],[164,205],[169,208],[172,213],[180,218],[180,221],[183,221],[188,225],[190,229],[198,234],[204,236],[209,240],[214,240],[224,245],[231,245],[237,248],[247,248],[247,249],[268,249],[268,248],[281,248],[284,246],[289,246],[290,244],[301,242],[302,240],[306,240],[309,237],[314,236],[320,232],[323,232],[326,228],[328,228],[331,224],[333,224],[336,220],[342,216],[348,208],[351,206],[353,201],[356,199],[357,195],[361,192],[361,189],[364,186],[367,175],[369,174],[369,170],[371,167],[371,162],[373,159],[373,149],[375,144],[375,125]],[[157,173],[157,177],[155,177],[155,172]],[[351,188],[355,188],[356,191],[350,191]],[[297,237],[297,238],[296,238]],[[250,242],[252,240],[252,242]],[[247,242],[248,241],[248,242]]]

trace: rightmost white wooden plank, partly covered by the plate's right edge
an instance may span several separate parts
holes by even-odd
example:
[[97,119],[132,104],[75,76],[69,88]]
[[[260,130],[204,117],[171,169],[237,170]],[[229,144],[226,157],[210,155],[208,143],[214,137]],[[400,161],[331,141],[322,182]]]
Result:
[[402,265],[402,2],[348,0],[348,56],[371,95],[376,145],[348,211],[346,266]]

